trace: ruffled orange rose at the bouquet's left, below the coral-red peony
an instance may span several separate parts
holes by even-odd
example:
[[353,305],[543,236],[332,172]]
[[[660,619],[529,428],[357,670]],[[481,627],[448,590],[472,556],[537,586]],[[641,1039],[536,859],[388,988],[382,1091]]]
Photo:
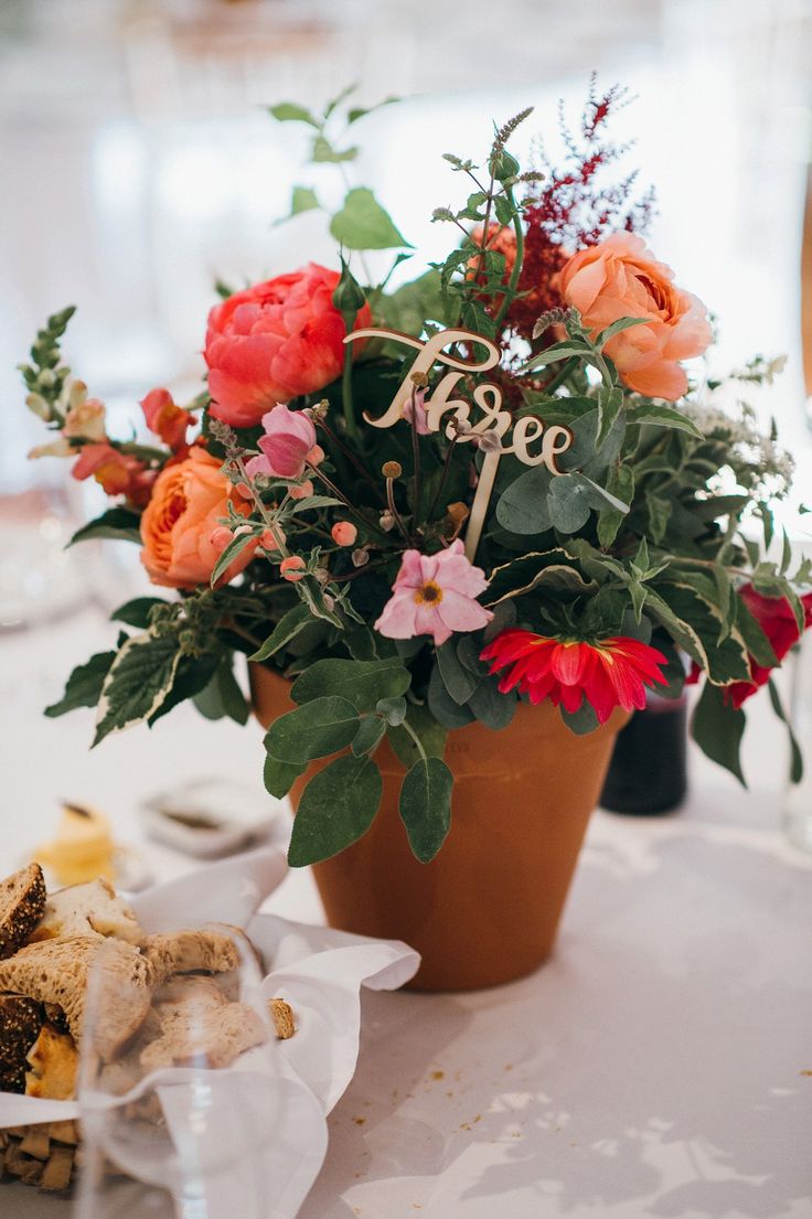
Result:
[[[207,584],[217,560],[230,541],[221,524],[228,501],[243,516],[248,503],[221,473],[221,463],[202,449],[161,471],[141,517],[141,563],[152,584],[194,589]],[[254,556],[246,546],[224,572],[219,584],[233,580]]]

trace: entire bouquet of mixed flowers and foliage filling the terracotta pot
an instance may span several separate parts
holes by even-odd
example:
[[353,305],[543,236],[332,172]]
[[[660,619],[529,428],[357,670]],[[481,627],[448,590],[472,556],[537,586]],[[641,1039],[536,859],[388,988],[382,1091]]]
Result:
[[[244,723],[235,655],[273,668],[296,706],[267,733],[268,790],[339,755],[305,787],[294,864],[368,829],[384,737],[412,850],[430,859],[450,823],[446,733],[505,729],[519,702],[550,700],[582,734],[701,680],[694,735],[743,778],[743,705],[768,685],[784,717],[771,673],[812,622],[812,566],[791,570],[786,545],[764,557],[790,462],[684,367],[712,341],[705,306],[645,245],[651,195],[633,199],[634,176],[605,184],[622,100],[593,88],[563,166],[522,171],[508,151],[529,111],[482,165],[447,154],[466,188],[433,213],[450,252],[396,289],[365,254],[393,251],[394,271],[408,244],[350,187],[329,221],[340,269],[221,285],[207,384],[185,405],[146,394],[150,444],[107,435],[61,362],[73,311],[49,319],[22,366],[57,434],[34,455],[73,457],[115,501],[73,541],[132,539],[178,595],[123,605],[117,647],[74,669],[46,714],[98,705],[94,744],[187,698]],[[322,115],[271,111],[341,168],[367,112],[346,94]],[[294,189],[294,215],[318,206]],[[758,358],[733,379],[774,371]]]

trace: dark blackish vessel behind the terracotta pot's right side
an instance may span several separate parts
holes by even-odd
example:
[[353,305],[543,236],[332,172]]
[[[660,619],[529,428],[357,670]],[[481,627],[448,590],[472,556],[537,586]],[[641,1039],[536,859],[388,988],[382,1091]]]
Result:
[[684,698],[651,700],[618,734],[600,803],[613,813],[669,813],[688,790]]

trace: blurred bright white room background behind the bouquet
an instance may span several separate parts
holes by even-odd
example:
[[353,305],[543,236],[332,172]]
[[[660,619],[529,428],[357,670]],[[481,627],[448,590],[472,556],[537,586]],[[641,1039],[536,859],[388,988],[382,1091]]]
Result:
[[[517,151],[543,134],[555,154],[558,100],[577,123],[593,69],[599,89],[636,98],[613,134],[635,141],[625,168],[656,189],[652,249],[717,319],[713,371],[786,355],[783,377],[749,396],[778,419],[811,500],[812,0],[0,0],[0,625],[20,641],[38,617],[87,599],[109,608],[141,580],[135,547],[63,551],[104,496],[67,462],[26,460],[44,436],[15,366],[45,317],[78,306],[66,357],[126,435],[149,389],[195,391],[217,277],[335,266],[324,213],[274,223],[294,183],[329,202],[344,187],[334,166],[306,163],[304,129],[268,105],[317,107],[352,82],[358,105],[406,99],[354,128],[349,172],[416,246],[400,268],[411,278],[449,246],[429,221],[458,191],[441,154],[475,158],[491,121],[527,105]],[[24,673],[27,733],[85,655],[73,634],[38,640],[35,668],[5,649],[17,659],[0,695]],[[46,725],[65,758],[73,719]],[[83,720],[82,750],[88,731]],[[119,745],[104,773],[74,761],[71,773],[105,796]]]

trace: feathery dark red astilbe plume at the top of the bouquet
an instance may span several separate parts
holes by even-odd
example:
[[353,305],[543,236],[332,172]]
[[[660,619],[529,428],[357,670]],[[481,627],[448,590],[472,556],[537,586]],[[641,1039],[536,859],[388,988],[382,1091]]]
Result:
[[596,245],[619,229],[629,233],[645,230],[651,219],[651,189],[630,202],[636,171],[605,187],[596,183],[600,171],[628,151],[628,145],[612,144],[606,133],[610,117],[628,104],[627,94],[628,90],[613,85],[599,98],[593,76],[580,123],[580,140],[574,138],[561,112],[561,134],[567,147],[563,166],[556,168],[541,152],[546,178],[538,199],[525,207],[519,295],[508,312],[512,328],[527,339],[539,315],[562,304],[556,280],[571,255],[584,246]]

